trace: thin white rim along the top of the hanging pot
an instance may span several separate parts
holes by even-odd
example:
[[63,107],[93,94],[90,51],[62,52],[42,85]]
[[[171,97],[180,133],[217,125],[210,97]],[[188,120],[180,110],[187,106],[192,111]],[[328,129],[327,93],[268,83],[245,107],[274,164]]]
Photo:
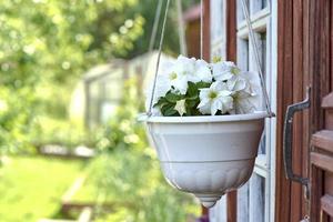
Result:
[[203,122],[236,122],[260,120],[269,118],[266,111],[255,111],[248,114],[230,114],[230,115],[196,115],[196,117],[148,117],[143,114],[140,121],[148,123],[203,123]]

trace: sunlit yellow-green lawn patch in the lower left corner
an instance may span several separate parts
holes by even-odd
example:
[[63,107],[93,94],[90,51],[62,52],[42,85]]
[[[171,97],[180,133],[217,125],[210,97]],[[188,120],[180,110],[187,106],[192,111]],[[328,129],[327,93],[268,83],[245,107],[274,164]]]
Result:
[[43,157],[11,157],[0,167],[0,221],[30,222],[59,214],[60,200],[84,163]]

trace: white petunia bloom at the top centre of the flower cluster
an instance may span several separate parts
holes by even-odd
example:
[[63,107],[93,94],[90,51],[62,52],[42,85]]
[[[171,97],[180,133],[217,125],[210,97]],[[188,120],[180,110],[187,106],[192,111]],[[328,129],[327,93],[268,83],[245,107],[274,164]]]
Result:
[[189,81],[191,82],[212,82],[213,75],[209,64],[204,60],[196,60],[194,65],[194,72],[189,74]]

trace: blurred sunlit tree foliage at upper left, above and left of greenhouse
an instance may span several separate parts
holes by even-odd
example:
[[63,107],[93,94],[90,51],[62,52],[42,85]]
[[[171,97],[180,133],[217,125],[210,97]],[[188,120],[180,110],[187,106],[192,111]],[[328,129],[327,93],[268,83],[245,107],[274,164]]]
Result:
[[[188,7],[198,0],[182,2]],[[68,121],[75,82],[95,64],[147,52],[157,4],[155,0],[0,1],[0,153],[30,152],[42,142],[74,143],[77,139],[62,135],[68,129],[83,131]],[[164,50],[178,53],[174,3],[171,7]]]

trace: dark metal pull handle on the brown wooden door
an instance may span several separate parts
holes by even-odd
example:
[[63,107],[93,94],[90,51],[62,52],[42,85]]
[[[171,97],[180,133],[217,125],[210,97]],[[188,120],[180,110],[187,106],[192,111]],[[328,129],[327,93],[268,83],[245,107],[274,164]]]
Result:
[[306,89],[304,101],[287,107],[283,129],[283,159],[286,179],[301,183],[305,186],[305,198],[310,196],[309,178],[302,178],[293,172],[292,169],[292,142],[293,142],[293,117],[295,112],[310,108],[311,88]]

